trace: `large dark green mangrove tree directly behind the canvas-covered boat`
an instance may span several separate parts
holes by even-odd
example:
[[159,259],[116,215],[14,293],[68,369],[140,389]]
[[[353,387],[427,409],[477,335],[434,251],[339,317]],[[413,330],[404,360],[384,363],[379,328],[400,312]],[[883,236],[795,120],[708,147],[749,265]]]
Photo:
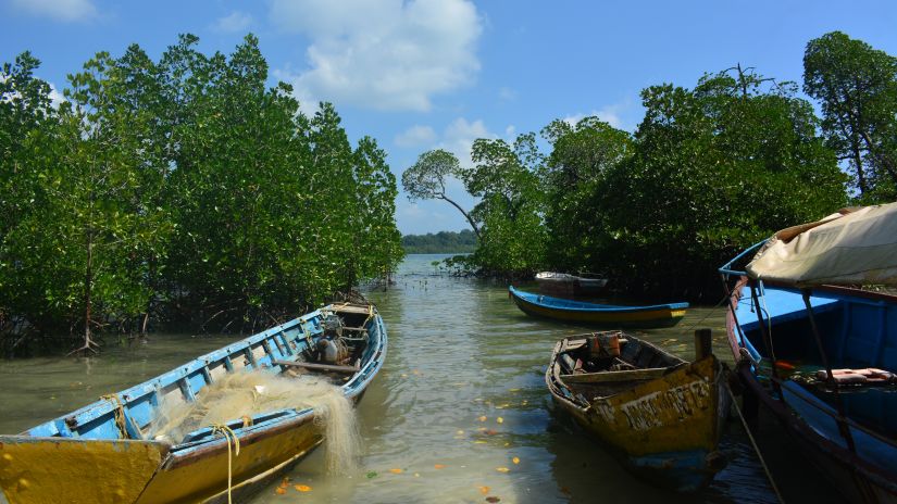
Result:
[[713,266],[735,251],[846,203],[812,106],[793,85],[737,71],[643,91],[633,155],[598,190],[607,227],[593,269],[631,290],[696,298],[714,292]]

